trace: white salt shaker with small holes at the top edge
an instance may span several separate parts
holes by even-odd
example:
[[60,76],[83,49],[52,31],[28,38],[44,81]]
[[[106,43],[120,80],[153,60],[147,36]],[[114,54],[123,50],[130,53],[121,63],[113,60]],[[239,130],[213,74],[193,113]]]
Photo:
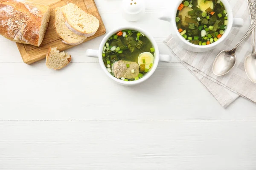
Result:
[[122,0],[122,14],[128,21],[137,21],[145,14],[144,0]]

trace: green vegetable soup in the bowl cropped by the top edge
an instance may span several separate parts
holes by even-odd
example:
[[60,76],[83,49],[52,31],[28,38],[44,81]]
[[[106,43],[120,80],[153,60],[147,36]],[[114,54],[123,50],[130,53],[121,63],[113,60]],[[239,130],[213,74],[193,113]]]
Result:
[[188,42],[209,45],[225,33],[227,10],[220,0],[184,0],[178,7],[176,24]]

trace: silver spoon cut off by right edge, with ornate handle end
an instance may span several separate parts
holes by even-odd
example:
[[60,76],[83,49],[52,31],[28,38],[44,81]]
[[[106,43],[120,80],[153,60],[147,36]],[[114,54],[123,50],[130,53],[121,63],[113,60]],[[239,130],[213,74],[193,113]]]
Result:
[[[255,19],[255,6],[256,1],[252,3],[250,0],[248,0],[248,6],[250,9],[250,18],[251,21]],[[253,29],[253,51],[250,55],[248,55],[244,60],[244,69],[247,74],[247,77],[254,83],[256,83],[256,40],[255,40],[255,29]]]

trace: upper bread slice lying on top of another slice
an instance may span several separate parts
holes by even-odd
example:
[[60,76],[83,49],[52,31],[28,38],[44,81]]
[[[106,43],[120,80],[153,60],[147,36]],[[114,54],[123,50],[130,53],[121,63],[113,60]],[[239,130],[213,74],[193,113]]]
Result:
[[61,11],[66,19],[67,28],[78,35],[90,37],[99,28],[99,20],[96,17],[73,3],[63,6]]

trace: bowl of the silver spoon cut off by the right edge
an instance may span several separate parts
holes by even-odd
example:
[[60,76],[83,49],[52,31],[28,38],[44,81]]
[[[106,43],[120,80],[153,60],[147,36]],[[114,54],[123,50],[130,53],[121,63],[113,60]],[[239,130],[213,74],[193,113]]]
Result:
[[256,54],[252,53],[245,58],[244,69],[247,77],[256,83]]

